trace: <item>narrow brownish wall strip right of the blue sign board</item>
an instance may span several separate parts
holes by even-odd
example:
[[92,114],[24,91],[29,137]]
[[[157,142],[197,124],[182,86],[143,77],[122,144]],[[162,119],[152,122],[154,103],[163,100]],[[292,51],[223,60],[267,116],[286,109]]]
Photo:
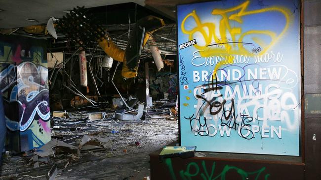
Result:
[[[321,0],[304,1],[304,93],[321,93]],[[321,114],[305,116],[305,179],[321,179]],[[315,138],[314,138],[315,135]]]

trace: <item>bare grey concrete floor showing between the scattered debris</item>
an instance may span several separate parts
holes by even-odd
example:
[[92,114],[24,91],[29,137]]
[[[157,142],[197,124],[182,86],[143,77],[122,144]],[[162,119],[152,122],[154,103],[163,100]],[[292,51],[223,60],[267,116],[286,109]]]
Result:
[[[106,117],[113,117],[113,113]],[[112,140],[112,149],[81,151],[79,155],[56,154],[50,157],[49,164],[40,163],[39,168],[33,168],[30,161],[32,153],[7,156],[3,159],[0,179],[45,180],[45,174],[55,162],[58,165],[57,180],[143,180],[150,176],[149,153],[178,139],[178,122],[169,119],[168,115],[160,112],[139,121],[109,118],[86,121],[75,124],[74,131],[55,128],[52,130],[52,138],[62,138],[59,140],[64,141],[76,137],[65,143],[78,147],[82,136],[87,134]],[[119,133],[113,134],[112,130]],[[139,142],[139,145],[135,142]],[[68,161],[70,164],[65,167]]]

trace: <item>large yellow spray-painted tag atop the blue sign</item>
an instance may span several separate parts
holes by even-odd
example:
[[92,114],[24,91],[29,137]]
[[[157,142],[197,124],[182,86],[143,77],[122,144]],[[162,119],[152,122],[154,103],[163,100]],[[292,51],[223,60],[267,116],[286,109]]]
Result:
[[[288,29],[291,23],[291,12],[289,9],[281,7],[281,6],[272,6],[266,7],[256,10],[247,10],[250,1],[247,0],[240,5],[237,5],[228,9],[213,9],[211,14],[218,15],[221,17],[219,21],[218,31],[215,30],[215,23],[202,23],[201,19],[197,15],[196,11],[193,10],[189,13],[181,23],[181,30],[183,33],[189,35],[189,39],[192,40],[195,36],[198,35],[199,38],[203,39],[205,44],[195,44],[194,47],[200,50],[201,57],[208,56],[223,56],[225,58],[224,61],[220,61],[214,69],[214,72],[225,64],[233,64],[233,56],[231,55],[247,55],[254,56],[254,54],[244,47],[244,44],[253,44],[243,42],[245,37],[251,37],[254,43],[259,46],[260,51],[256,55],[262,55],[266,53],[266,51],[272,47],[278,40],[284,35],[285,31]],[[241,27],[232,27],[234,22],[239,24],[243,23],[242,17],[249,15],[256,15],[259,13],[266,12],[276,12],[280,13],[285,18],[285,24],[283,25],[283,29],[280,34],[273,32],[271,30],[247,30],[243,31]],[[188,18],[193,18],[196,27],[191,30],[187,30],[185,27],[185,22]],[[244,25],[246,26],[246,25]],[[268,36],[270,42],[266,43],[260,36]],[[216,47],[216,48],[215,48]],[[219,48],[217,48],[219,47]],[[214,73],[213,73],[214,74]],[[215,78],[215,77],[213,77]]]

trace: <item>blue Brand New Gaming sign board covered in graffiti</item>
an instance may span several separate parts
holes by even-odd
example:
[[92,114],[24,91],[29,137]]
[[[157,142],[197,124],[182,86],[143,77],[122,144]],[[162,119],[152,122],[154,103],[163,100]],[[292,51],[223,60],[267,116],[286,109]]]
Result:
[[182,146],[299,155],[298,6],[297,0],[178,6]]

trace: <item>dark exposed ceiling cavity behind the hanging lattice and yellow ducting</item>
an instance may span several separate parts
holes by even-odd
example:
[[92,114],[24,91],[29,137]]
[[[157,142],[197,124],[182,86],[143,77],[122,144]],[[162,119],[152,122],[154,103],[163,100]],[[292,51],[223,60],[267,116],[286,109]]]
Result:
[[[69,8],[69,9],[73,9]],[[101,25],[107,32],[108,36],[111,37],[111,40],[120,48],[125,49],[128,43],[129,34],[135,27],[136,22],[148,15],[153,15],[156,17],[160,17],[164,19],[165,26],[160,30],[154,33],[154,39],[157,42],[157,45],[160,48],[160,52],[166,55],[174,55],[176,54],[176,25],[175,22],[169,18],[166,18],[150,9],[147,9],[141,5],[136,3],[122,3],[115,5],[105,5],[99,7],[88,8],[85,7],[88,14],[91,14],[91,17],[95,17],[95,21]],[[0,12],[3,13],[5,11]],[[62,16],[66,15],[70,11],[62,12],[59,19]],[[0,16],[1,17],[1,16]],[[117,17],[117,18],[115,18]],[[39,19],[39,18],[38,18]],[[38,20],[37,20],[38,21]],[[41,23],[43,27],[45,27],[47,20],[44,19],[44,23]],[[57,22],[58,22],[57,21]],[[27,22],[27,21],[26,21]],[[57,23],[55,22],[55,23]],[[96,23],[95,22],[95,23]],[[34,23],[34,22],[33,22]],[[36,22],[37,23],[37,22]],[[39,24],[39,23],[37,23]],[[2,25],[2,23],[1,23]],[[21,26],[19,26],[21,27]],[[57,31],[58,38],[54,39],[50,34],[34,33],[33,26],[29,26],[30,29],[26,30],[26,28],[15,28],[9,29],[9,34],[12,35],[20,35],[33,37],[37,39],[47,39],[47,48],[49,52],[65,52],[69,53],[77,49],[77,45],[69,39],[61,30],[55,28]],[[2,29],[4,32],[4,29]],[[88,48],[90,54],[90,49],[95,49],[94,46]],[[103,56],[105,53],[101,48],[97,48],[96,55]],[[142,57],[151,56],[149,46],[145,46],[142,49]]]

